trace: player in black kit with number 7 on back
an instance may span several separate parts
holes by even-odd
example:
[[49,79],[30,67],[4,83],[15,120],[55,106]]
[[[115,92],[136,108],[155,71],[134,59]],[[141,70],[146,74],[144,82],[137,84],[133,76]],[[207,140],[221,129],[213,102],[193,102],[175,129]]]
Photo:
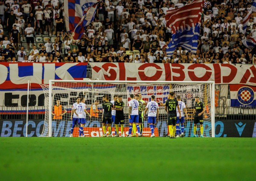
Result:
[[[109,97],[106,96],[105,97],[105,102],[102,103],[102,109],[104,110],[103,113],[103,119],[102,119],[102,129],[104,134],[102,135],[102,137],[110,137],[110,133],[111,133],[111,124],[112,124],[112,107],[113,104],[111,102],[109,102]],[[106,124],[108,126],[108,136],[106,135]]]

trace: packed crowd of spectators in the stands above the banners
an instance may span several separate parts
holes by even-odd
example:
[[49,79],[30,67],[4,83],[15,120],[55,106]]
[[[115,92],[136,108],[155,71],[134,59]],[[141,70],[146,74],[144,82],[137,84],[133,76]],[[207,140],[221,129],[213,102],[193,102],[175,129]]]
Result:
[[205,0],[196,54],[179,47],[167,57],[165,15],[191,2],[103,0],[82,38],[72,40],[63,0],[0,1],[0,61],[256,64],[255,48],[242,43],[256,36],[256,12],[242,31],[252,0]]

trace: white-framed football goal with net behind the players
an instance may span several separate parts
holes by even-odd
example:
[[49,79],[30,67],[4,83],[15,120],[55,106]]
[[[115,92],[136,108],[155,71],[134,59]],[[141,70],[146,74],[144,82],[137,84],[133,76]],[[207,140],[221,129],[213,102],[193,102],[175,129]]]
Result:
[[[140,93],[142,99],[147,103],[150,101],[151,95],[156,96],[156,101],[165,103],[170,92],[175,92],[175,98],[179,95],[181,101],[186,104],[188,112],[188,119],[185,118],[184,134],[185,137],[192,136],[193,133],[193,119],[191,115],[194,110],[195,97],[198,96],[200,101],[205,105],[204,112],[204,137],[214,137],[214,104],[213,104],[213,82],[136,82],[136,81],[64,81],[64,80],[50,80],[50,84],[40,84],[44,91],[45,102],[45,118],[44,127],[41,136],[54,137],[69,137],[72,126],[71,111],[72,105],[76,102],[76,98],[84,97],[86,110],[88,113],[92,112],[92,104],[98,100],[97,109],[99,113],[94,113],[91,119],[86,115],[86,124],[84,126],[85,137],[100,137],[103,135],[102,129],[102,96],[108,96],[113,100],[114,95],[123,97],[124,106],[124,135],[127,136],[129,132],[129,116],[128,116],[128,102],[130,94]],[[54,106],[60,100],[60,109],[57,111]],[[55,106],[56,107],[56,106]],[[66,112],[66,111],[67,112]],[[58,113],[54,113],[57,111]],[[65,113],[66,112],[66,113]],[[144,112],[144,110],[143,110]],[[57,115],[59,114],[59,115]],[[63,114],[62,116],[60,114]],[[143,119],[143,132],[146,137],[151,135],[150,127],[146,119]],[[119,134],[121,128],[119,128]],[[136,130],[137,131],[137,130]],[[155,135],[165,136],[167,129],[167,113],[164,106],[159,106],[159,119],[155,124]],[[73,136],[77,137],[79,134],[79,127],[76,125],[73,131]],[[200,127],[197,125],[197,136],[200,136]],[[112,136],[115,135],[115,126],[112,123]]]

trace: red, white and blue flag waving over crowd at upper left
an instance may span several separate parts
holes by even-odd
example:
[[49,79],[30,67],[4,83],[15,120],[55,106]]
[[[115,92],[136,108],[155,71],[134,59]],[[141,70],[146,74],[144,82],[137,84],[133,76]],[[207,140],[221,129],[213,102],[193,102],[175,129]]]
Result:
[[98,3],[99,0],[64,0],[66,28],[75,40],[81,38],[84,27],[93,21]]

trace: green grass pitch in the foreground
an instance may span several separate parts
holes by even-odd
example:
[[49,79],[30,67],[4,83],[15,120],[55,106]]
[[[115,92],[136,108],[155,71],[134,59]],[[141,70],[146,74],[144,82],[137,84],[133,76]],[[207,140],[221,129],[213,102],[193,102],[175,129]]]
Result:
[[255,180],[253,138],[1,138],[0,180]]

